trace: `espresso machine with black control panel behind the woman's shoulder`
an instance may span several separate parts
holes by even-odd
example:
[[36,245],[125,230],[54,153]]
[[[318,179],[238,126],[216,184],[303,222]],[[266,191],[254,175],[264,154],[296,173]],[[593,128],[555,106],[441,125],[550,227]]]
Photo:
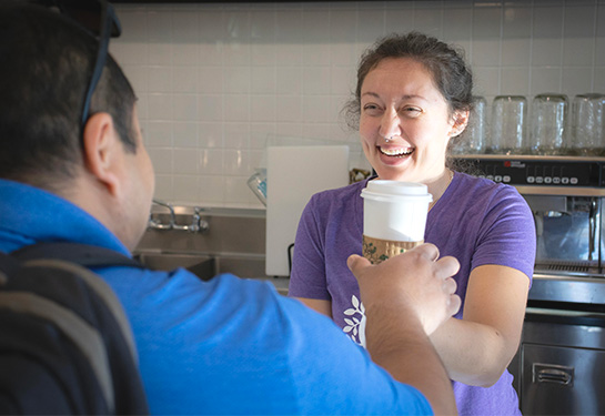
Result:
[[456,160],[463,171],[513,185],[525,197],[536,225],[536,272],[603,274],[605,159],[468,155]]

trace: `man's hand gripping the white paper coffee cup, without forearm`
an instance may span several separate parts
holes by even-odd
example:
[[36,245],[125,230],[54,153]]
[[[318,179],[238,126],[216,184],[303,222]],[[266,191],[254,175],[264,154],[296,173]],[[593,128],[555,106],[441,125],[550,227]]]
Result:
[[367,312],[377,307],[390,311],[386,314],[393,318],[415,316],[431,335],[461,306],[451,277],[460,264],[454,257],[437,258],[436,246],[422,244],[379,265],[359,255],[350,256],[347,265],[357,278]]

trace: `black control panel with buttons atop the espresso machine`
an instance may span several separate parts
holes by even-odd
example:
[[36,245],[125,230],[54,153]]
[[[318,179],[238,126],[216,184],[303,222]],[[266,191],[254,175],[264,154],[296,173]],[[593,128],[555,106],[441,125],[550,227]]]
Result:
[[471,155],[457,168],[510,185],[605,187],[605,159]]

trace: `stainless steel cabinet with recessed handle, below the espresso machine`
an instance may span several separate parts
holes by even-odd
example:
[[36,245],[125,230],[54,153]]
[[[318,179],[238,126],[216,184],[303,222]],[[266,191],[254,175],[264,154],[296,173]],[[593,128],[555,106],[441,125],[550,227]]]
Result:
[[533,311],[511,363],[521,412],[605,414],[605,315]]

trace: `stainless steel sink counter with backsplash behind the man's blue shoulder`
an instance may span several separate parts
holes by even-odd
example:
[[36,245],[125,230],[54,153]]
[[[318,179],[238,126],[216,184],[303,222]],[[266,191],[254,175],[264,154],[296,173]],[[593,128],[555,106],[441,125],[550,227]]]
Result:
[[154,224],[192,223],[196,213],[206,229],[189,232],[174,227],[149,227],[134,251],[145,265],[157,270],[184,267],[202,280],[231,273],[242,278],[262,280],[288,294],[288,277],[265,273],[265,216],[260,210],[193,209],[171,206],[174,216],[162,206],[153,206]]

